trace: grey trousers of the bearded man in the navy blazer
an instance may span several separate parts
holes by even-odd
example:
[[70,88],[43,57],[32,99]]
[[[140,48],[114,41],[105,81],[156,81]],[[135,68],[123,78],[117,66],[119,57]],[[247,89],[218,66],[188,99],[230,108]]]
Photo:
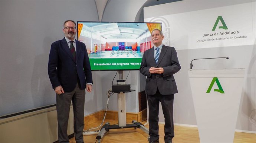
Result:
[[56,94],[59,143],[69,143],[67,130],[71,100],[75,120],[74,135],[76,143],[83,143],[85,89],[81,90],[78,84],[76,84],[76,88],[72,92]]

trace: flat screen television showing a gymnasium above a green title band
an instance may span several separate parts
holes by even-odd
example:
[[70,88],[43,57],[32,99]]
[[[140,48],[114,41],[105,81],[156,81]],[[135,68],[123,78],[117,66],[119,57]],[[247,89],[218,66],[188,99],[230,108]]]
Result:
[[78,41],[85,43],[92,71],[139,70],[151,32],[161,23],[78,21]]

